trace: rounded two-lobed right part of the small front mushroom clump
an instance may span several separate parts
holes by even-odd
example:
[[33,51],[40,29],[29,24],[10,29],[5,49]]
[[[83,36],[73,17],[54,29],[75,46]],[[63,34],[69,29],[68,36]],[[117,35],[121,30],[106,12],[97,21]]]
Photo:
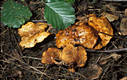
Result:
[[77,67],[83,67],[87,60],[87,53],[85,49],[81,46],[74,47],[73,45],[68,45],[64,47],[60,59],[65,64],[76,64]]

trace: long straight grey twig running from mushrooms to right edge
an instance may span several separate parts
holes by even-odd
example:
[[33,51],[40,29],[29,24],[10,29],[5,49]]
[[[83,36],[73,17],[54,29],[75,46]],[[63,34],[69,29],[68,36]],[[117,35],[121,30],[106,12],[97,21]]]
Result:
[[86,49],[86,51],[87,51],[87,52],[112,53],[112,52],[122,52],[122,51],[127,51],[127,48],[112,49],[112,50],[93,50],[93,49]]

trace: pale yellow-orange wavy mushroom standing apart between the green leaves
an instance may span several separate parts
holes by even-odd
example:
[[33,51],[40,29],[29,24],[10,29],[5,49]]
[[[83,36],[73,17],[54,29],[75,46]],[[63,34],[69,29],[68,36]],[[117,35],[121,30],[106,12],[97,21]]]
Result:
[[50,33],[45,31],[46,23],[28,22],[18,29],[18,34],[21,36],[19,45],[23,48],[34,47],[36,43],[42,42]]

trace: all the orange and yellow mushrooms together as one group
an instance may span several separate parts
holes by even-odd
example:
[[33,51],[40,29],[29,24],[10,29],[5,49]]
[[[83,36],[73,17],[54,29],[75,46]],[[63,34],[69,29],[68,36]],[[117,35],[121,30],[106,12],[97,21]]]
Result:
[[[22,37],[20,46],[34,47],[50,35],[46,23],[28,22],[18,33]],[[48,48],[42,53],[41,62],[44,64],[68,65],[69,71],[74,67],[83,67],[87,61],[85,48],[101,49],[106,46],[113,36],[113,29],[105,17],[88,15],[84,21],[79,21],[56,34],[56,47]]]

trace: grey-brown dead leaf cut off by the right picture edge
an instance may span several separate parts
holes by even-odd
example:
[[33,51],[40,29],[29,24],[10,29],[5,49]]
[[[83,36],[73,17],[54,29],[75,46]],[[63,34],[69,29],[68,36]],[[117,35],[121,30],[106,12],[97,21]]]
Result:
[[127,18],[122,18],[120,23],[120,31],[122,35],[127,35]]

